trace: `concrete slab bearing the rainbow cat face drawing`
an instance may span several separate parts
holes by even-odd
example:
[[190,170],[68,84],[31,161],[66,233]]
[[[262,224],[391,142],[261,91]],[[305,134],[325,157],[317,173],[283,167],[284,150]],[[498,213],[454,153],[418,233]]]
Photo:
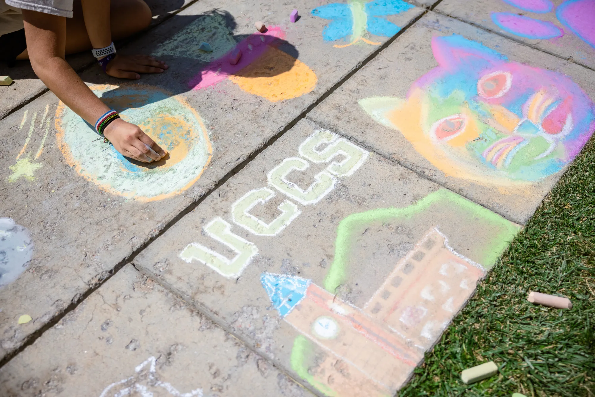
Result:
[[595,130],[594,82],[429,12],[309,117],[525,223]]

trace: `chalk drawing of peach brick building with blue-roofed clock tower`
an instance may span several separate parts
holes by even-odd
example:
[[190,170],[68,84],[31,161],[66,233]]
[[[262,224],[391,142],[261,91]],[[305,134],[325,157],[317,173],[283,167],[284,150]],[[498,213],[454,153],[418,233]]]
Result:
[[363,310],[301,277],[264,273],[261,283],[281,318],[327,352],[318,380],[339,396],[383,396],[409,379],[483,274],[432,228]]

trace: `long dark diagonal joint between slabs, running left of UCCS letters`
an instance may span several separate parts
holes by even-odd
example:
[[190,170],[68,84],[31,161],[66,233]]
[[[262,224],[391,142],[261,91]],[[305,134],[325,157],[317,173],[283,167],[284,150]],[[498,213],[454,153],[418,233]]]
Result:
[[[194,2],[197,2],[197,1],[200,1],[200,0],[195,0],[193,2],[190,2],[189,5],[194,4]],[[186,8],[186,7],[184,7],[184,8]],[[183,10],[183,8],[180,8],[180,11],[181,10]],[[159,230],[157,233],[155,233],[151,237],[148,237],[148,239],[146,239],[145,242],[143,242],[138,248],[134,249],[134,251],[131,252],[130,255],[123,258],[123,260],[118,262],[118,264],[116,264],[115,267],[113,267],[111,270],[107,271],[108,274],[106,277],[104,277],[104,279],[100,280],[95,285],[90,286],[90,288],[88,290],[86,290],[84,293],[76,296],[73,299],[73,301],[71,301],[71,304],[68,305],[64,310],[58,312],[53,318],[51,318],[51,320],[48,321],[48,323],[46,323],[44,326],[40,327],[40,329],[37,330],[36,332],[34,332],[31,335],[29,335],[28,337],[26,337],[26,339],[24,339],[23,344],[21,346],[19,346],[14,351],[5,355],[5,357],[2,358],[2,360],[0,360],[0,368],[4,367],[4,365],[7,364],[9,361],[11,361],[12,358],[16,357],[20,352],[24,351],[24,349],[26,349],[27,346],[30,346],[33,343],[35,343],[35,341],[37,339],[39,339],[39,337],[42,336],[43,333],[45,333],[51,327],[58,324],[58,322],[60,322],[60,320],[62,320],[62,318],[65,317],[65,315],[67,315],[71,311],[75,310],[79,306],[79,304],[81,302],[83,302],[84,299],[87,298],[87,296],[91,295],[93,292],[95,292],[97,289],[99,289],[99,287],[104,285],[104,283],[107,282],[109,279],[111,279],[111,277],[114,276],[114,274],[118,273],[118,271],[120,271],[121,268],[124,267],[124,265],[126,265],[127,263],[130,263],[130,262],[133,262],[134,258],[136,258],[137,255],[139,255],[142,251],[144,251],[145,248],[147,248],[152,242],[154,242],[154,240],[156,240],[158,237],[162,236],[165,232],[167,232],[167,230],[170,229],[170,227],[174,226],[174,224],[176,224],[181,218],[183,218],[185,215],[189,214],[189,212],[191,212],[196,207],[198,207],[198,205],[200,205],[206,198],[208,198],[210,195],[212,195],[214,192],[216,192],[217,189],[220,186],[224,185],[231,177],[236,176],[236,174],[239,173],[240,171],[242,171],[246,167],[246,165],[248,165],[252,160],[254,160],[254,158],[256,158],[256,156],[261,154],[261,152],[264,151],[265,149],[267,149],[269,146],[273,145],[273,143],[277,139],[279,139],[281,136],[283,136],[284,133],[286,133],[287,131],[292,129],[293,126],[295,126],[298,123],[298,121],[302,120],[303,118],[306,118],[306,115],[308,115],[309,112],[311,112],[315,107],[317,107],[318,104],[320,104],[320,102],[324,101],[324,99],[326,99],[335,90],[337,90],[340,86],[342,86],[343,83],[345,83],[347,80],[349,80],[349,78],[351,76],[353,76],[353,74],[355,74],[362,67],[367,65],[368,62],[370,62],[375,57],[377,57],[377,55],[380,54],[380,52],[382,52],[391,43],[393,43],[394,40],[396,40],[407,29],[409,29],[409,27],[411,27],[413,24],[415,24],[419,19],[421,19],[429,11],[430,10],[426,9],[424,12],[421,12],[421,14],[419,14],[417,17],[412,19],[408,24],[406,24],[406,26],[404,26],[403,29],[401,29],[396,35],[394,35],[389,40],[387,40],[383,45],[381,45],[380,47],[375,49],[375,51],[373,51],[370,55],[368,55],[368,57],[365,58],[363,61],[359,62],[359,64],[355,65],[355,67],[353,67],[353,69],[351,71],[349,71],[349,73],[347,73],[345,76],[343,76],[342,79],[340,79],[337,83],[335,83],[332,87],[330,87],[326,92],[324,92],[311,105],[306,107],[305,110],[303,110],[292,121],[290,121],[288,124],[286,124],[286,126],[283,127],[283,129],[281,129],[278,133],[276,133],[270,139],[268,139],[267,142],[265,142],[262,146],[260,146],[259,148],[256,148],[256,150],[253,151],[252,154],[250,154],[248,157],[246,157],[246,159],[244,161],[240,162],[240,164],[237,164],[236,167],[234,167],[231,171],[229,171],[227,174],[225,174],[223,177],[221,177],[221,179],[219,179],[217,182],[213,183],[210,187],[207,187],[206,192],[203,193],[202,196],[200,196],[199,198],[196,198],[194,201],[192,201],[189,205],[187,205],[186,208],[184,208],[176,216],[171,218],[171,220],[168,221],[161,230]],[[155,26],[158,26],[158,25],[155,25]],[[310,390],[310,389],[308,389],[308,390]],[[320,395],[320,394],[317,393],[317,395]]]

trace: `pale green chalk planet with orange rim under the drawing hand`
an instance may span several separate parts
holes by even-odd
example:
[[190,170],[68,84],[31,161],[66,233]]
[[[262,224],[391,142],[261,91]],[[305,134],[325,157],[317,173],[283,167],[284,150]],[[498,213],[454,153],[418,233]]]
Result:
[[139,201],[177,195],[201,177],[211,160],[211,143],[201,117],[183,98],[147,85],[90,88],[121,118],[151,136],[168,155],[152,163],[126,158],[60,102],[56,111],[58,145],[77,173],[106,192]]

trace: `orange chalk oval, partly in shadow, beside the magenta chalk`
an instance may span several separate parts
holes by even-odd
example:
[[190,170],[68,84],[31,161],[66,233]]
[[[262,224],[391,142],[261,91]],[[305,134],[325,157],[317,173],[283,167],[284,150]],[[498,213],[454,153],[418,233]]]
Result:
[[[275,70],[287,70],[276,74]],[[292,99],[314,90],[317,77],[303,62],[280,49],[270,47],[262,57],[229,79],[245,92],[271,102]]]

